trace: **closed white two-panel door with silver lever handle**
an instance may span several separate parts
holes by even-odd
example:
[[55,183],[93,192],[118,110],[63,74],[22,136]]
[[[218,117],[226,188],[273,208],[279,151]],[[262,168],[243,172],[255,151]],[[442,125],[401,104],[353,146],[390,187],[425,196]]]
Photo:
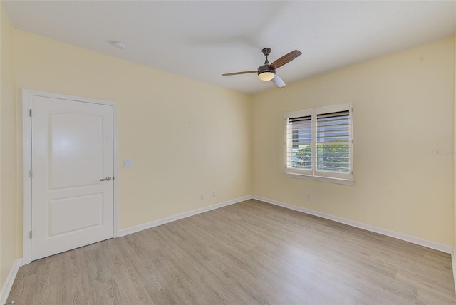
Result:
[[31,96],[31,260],[113,237],[113,107]]

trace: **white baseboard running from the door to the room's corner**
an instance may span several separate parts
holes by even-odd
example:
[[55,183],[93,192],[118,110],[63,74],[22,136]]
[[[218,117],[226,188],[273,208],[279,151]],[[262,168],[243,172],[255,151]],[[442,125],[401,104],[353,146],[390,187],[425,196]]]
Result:
[[242,202],[242,201],[249,200],[249,199],[252,199],[252,195],[240,197],[240,198],[237,198],[237,199],[234,199],[234,200],[228,200],[228,201],[225,201],[225,202],[220,202],[220,203],[217,203],[216,205],[209,205],[209,207],[202,207],[202,208],[199,208],[197,210],[192,210],[192,211],[185,212],[185,213],[182,213],[182,214],[177,214],[177,215],[173,215],[173,216],[170,216],[170,217],[157,219],[157,220],[154,220],[153,222],[147,222],[145,224],[140,224],[138,226],[130,227],[128,229],[121,229],[118,232],[118,236],[119,237],[123,237],[123,236],[128,235],[128,234],[133,234],[135,232],[140,232],[140,231],[145,230],[145,229],[150,229],[152,227],[157,227],[157,226],[160,226],[162,224],[167,224],[168,222],[174,222],[176,220],[187,218],[187,217],[190,217],[190,216],[194,216],[196,214],[201,214],[201,213],[204,213],[204,212],[215,210],[215,209],[218,209],[219,207],[226,207],[227,205],[234,205],[235,203]]

